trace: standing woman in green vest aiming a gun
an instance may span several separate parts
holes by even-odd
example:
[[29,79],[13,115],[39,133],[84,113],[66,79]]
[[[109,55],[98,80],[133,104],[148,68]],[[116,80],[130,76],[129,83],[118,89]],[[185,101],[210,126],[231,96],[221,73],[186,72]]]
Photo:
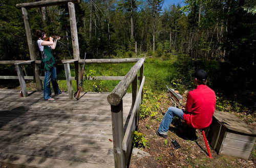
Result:
[[60,37],[57,37],[54,41],[53,38],[50,37],[49,41],[45,41],[44,38],[46,38],[46,32],[44,30],[37,30],[36,31],[37,36],[37,44],[38,44],[38,50],[39,55],[41,57],[41,66],[42,70],[45,71],[45,81],[44,81],[44,99],[48,101],[54,101],[55,99],[51,97],[52,91],[51,91],[51,85],[50,82],[52,81],[52,87],[54,90],[55,95],[61,94],[57,83],[57,73],[56,73],[56,63],[55,58],[52,54],[52,49],[55,49],[57,40],[60,39]]

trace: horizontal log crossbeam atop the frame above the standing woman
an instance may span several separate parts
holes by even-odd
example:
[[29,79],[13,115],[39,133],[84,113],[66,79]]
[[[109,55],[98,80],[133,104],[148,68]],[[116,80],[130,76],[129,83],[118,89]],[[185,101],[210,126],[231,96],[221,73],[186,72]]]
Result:
[[32,3],[22,3],[16,4],[16,8],[38,8],[38,7],[47,7],[54,5],[67,4],[68,2],[79,3],[80,0],[47,0],[47,1],[38,1]]

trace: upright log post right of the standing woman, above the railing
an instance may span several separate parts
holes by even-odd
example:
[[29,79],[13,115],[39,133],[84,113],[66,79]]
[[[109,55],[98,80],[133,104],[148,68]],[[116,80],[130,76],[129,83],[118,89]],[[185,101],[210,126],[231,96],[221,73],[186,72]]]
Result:
[[78,37],[77,37],[75,5],[74,3],[69,2],[68,6],[69,6],[69,21],[70,21],[71,36],[72,36],[73,55],[75,60],[79,60],[79,44],[78,44]]

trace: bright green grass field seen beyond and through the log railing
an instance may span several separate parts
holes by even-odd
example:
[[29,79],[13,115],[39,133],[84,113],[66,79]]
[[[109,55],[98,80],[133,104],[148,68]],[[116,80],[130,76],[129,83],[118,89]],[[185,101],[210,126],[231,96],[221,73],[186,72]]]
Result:
[[[146,59],[144,63],[145,87],[153,90],[163,90],[165,85],[169,85],[170,76],[175,73],[173,66],[174,59],[161,61],[158,59]],[[124,76],[135,63],[120,64],[87,64],[84,75],[87,76]],[[71,75],[75,76],[74,67],[71,66]],[[65,76],[65,71],[58,73],[59,76]],[[88,92],[111,92],[120,80],[84,80],[84,91]],[[73,80],[73,87],[76,86]],[[66,80],[58,81],[61,90],[67,90]],[[128,92],[131,92],[131,87]]]

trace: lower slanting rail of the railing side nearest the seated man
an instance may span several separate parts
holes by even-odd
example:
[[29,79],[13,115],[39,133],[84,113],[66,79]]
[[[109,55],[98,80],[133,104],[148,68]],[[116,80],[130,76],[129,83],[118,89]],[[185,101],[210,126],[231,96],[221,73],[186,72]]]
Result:
[[134,103],[134,106],[133,106],[133,110],[132,110],[132,113],[131,113],[131,117],[130,117],[129,123],[127,125],[126,131],[125,131],[124,136],[123,136],[122,146],[123,146],[124,151],[127,151],[127,149],[129,149],[129,145],[132,144],[132,133],[133,133],[133,130],[135,129],[135,126],[136,126],[135,117],[136,117],[136,114],[138,115],[138,108],[139,108],[139,105],[141,103],[141,96],[142,96],[142,90],[143,90],[144,82],[145,82],[145,76],[142,78],[140,88],[139,88],[139,91],[138,91],[138,95],[136,97],[136,100],[135,100],[135,103]]

